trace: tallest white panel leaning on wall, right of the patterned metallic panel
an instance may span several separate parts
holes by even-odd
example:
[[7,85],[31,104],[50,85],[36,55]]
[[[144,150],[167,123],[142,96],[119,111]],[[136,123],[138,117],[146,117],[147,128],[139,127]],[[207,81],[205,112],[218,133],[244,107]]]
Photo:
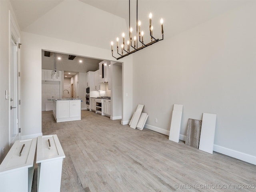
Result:
[[203,113],[199,149],[212,154],[216,127],[216,114]]

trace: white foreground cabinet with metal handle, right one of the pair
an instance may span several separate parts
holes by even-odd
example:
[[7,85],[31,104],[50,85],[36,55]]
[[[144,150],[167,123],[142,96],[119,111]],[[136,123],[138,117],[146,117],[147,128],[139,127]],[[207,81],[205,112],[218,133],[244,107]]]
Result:
[[65,154],[56,134],[38,137],[36,150],[38,192],[60,191],[64,158]]

